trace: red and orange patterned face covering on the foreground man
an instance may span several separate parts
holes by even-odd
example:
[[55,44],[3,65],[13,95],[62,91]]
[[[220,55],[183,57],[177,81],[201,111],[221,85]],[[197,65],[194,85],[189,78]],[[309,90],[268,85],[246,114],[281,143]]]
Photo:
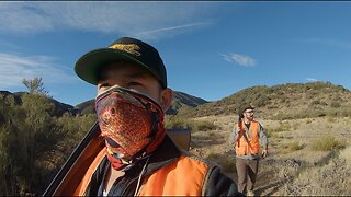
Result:
[[125,171],[163,140],[163,111],[152,99],[113,86],[95,99],[101,136],[115,170]]

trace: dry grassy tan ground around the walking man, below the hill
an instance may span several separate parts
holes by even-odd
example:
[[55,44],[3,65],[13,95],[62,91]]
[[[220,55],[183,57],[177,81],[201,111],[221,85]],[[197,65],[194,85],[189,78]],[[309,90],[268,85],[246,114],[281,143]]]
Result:
[[[236,116],[197,118],[219,128],[192,134],[191,152],[216,163],[237,181],[228,138]],[[254,193],[259,196],[350,196],[351,118],[257,119],[270,132],[269,157],[260,160]],[[274,130],[274,132],[272,132]],[[332,135],[346,148],[314,150],[314,141]],[[298,148],[288,148],[298,144]],[[321,146],[324,146],[321,143]]]

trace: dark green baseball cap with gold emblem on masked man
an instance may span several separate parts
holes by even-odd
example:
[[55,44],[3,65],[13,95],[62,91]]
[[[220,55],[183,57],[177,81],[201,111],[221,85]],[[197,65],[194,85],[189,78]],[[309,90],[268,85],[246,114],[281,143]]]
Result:
[[121,60],[146,68],[162,88],[167,88],[167,71],[158,50],[151,45],[132,37],[122,37],[107,48],[87,53],[76,62],[75,71],[80,79],[97,85],[101,68]]

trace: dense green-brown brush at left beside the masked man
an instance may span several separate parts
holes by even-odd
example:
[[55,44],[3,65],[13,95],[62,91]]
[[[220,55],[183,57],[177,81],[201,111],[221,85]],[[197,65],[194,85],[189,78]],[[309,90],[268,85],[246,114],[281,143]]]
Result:
[[27,84],[30,93],[0,95],[1,196],[42,194],[97,119],[57,116],[42,81]]

